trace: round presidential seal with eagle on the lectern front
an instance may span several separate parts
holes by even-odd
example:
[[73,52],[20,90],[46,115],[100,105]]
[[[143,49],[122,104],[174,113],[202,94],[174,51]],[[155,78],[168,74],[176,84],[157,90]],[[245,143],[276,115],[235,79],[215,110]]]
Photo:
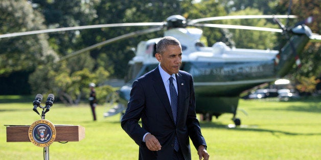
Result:
[[48,120],[37,120],[30,125],[28,137],[34,145],[38,147],[48,147],[56,138],[55,125]]

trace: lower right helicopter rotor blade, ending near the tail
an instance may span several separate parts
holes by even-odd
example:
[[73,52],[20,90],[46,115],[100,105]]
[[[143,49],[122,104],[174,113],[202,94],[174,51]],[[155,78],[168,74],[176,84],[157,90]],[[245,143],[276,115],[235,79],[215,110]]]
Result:
[[241,30],[255,30],[255,31],[268,31],[268,32],[279,32],[282,33],[281,29],[271,29],[258,26],[247,26],[247,25],[230,25],[230,24],[207,24],[207,23],[196,23],[194,26],[207,26],[212,28],[224,28],[224,29],[241,29]]

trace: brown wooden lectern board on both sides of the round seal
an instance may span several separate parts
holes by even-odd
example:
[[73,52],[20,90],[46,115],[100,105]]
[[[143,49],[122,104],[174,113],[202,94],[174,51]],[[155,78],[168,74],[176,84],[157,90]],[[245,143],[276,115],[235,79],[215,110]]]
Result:
[[[28,129],[30,125],[6,125],[7,142],[30,142]],[[55,125],[57,136],[55,142],[77,142],[85,138],[85,128],[81,125]]]

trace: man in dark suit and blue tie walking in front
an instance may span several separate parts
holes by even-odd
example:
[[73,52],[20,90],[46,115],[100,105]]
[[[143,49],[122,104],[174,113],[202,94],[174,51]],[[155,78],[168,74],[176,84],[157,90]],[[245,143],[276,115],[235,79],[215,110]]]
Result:
[[196,118],[192,75],[179,70],[181,55],[177,39],[162,38],[156,45],[158,67],[132,84],[121,125],[140,146],[139,159],[191,159],[189,138],[199,159],[209,159]]

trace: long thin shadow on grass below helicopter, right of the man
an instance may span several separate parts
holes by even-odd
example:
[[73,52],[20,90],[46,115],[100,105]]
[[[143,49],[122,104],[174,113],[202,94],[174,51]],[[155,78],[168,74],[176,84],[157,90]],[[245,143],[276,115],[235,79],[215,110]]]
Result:
[[252,126],[241,125],[237,127],[228,127],[228,125],[225,125],[225,124],[217,124],[214,122],[202,122],[200,126],[201,128],[219,128],[219,129],[228,129],[228,130],[237,130],[237,131],[270,132],[272,135],[277,135],[277,134],[284,134],[289,136],[321,135],[321,132],[320,133],[297,133],[297,132],[289,132],[289,131],[283,131],[283,130],[258,128],[257,125],[252,125]]

